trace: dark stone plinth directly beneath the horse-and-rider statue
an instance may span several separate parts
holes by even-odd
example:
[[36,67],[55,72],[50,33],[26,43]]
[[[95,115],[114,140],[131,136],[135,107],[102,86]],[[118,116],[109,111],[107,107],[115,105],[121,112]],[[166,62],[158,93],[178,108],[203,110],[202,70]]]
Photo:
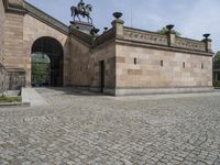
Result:
[[90,31],[94,28],[94,24],[87,23],[87,22],[70,21],[70,26],[84,33],[90,34]]

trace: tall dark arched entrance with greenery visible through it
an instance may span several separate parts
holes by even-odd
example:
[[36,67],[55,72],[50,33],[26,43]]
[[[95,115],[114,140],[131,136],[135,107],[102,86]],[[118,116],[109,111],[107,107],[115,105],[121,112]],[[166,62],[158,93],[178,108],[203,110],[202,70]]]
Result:
[[40,37],[32,46],[32,86],[63,86],[63,47],[53,37]]

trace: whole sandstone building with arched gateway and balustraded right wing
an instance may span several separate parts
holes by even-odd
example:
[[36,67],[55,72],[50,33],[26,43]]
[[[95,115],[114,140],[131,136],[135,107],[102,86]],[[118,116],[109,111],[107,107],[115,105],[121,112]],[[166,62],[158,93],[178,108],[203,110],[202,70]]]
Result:
[[123,25],[102,34],[85,24],[65,25],[23,0],[0,0],[0,85],[32,85],[32,54],[51,61],[48,86],[80,87],[109,95],[189,92],[212,89],[211,40],[161,35]]

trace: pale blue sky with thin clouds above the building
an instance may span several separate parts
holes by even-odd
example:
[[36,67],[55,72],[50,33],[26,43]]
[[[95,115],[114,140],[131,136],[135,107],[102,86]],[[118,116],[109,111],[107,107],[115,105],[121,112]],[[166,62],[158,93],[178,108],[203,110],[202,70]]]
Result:
[[[42,11],[69,25],[70,7],[79,0],[26,0]],[[174,24],[183,37],[202,40],[210,33],[212,51],[220,51],[220,0],[84,0],[92,4],[96,28],[111,28],[112,13],[123,13],[124,25],[157,31]]]

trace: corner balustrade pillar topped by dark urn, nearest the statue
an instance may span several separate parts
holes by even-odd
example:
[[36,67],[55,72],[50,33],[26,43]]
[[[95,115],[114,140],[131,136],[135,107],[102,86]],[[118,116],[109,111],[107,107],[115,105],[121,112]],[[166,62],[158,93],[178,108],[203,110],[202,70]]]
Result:
[[116,20],[111,22],[112,28],[116,32],[116,37],[117,38],[123,38],[123,24],[124,21],[121,20],[120,18],[122,16],[122,13],[116,12],[113,13]]

